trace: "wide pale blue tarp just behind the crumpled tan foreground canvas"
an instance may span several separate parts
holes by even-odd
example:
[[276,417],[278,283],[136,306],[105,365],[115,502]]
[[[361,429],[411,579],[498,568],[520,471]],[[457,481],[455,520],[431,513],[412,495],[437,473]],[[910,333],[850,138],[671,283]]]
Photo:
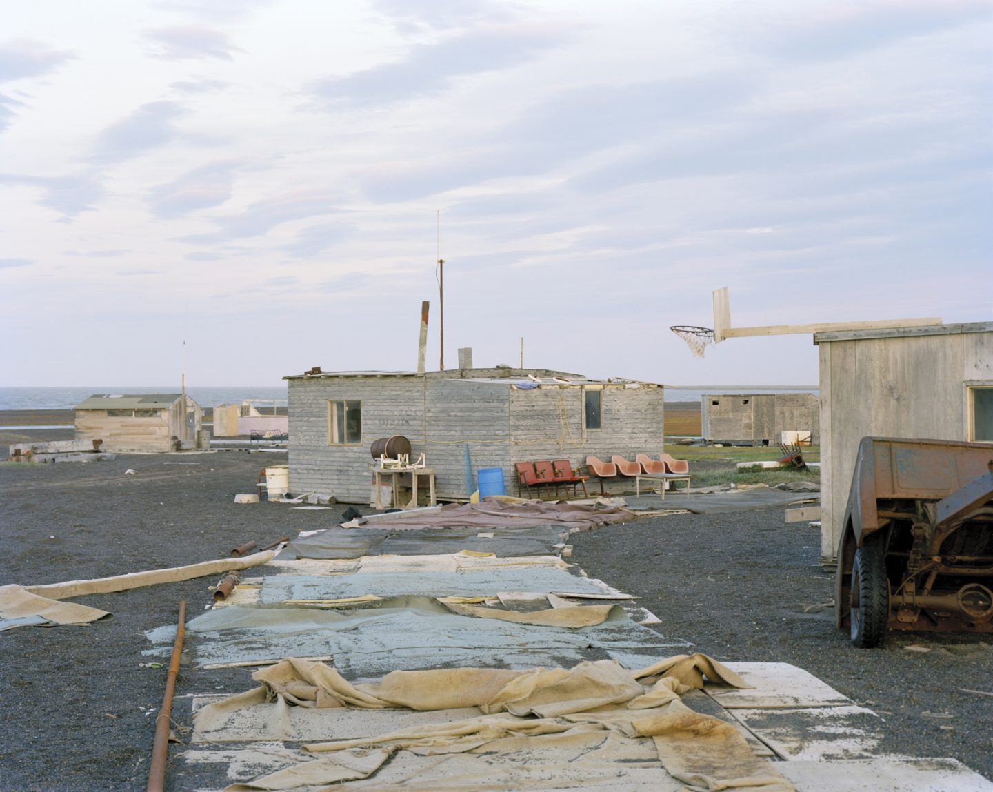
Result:
[[[151,630],[169,651],[174,626]],[[393,597],[371,606],[326,610],[304,607],[214,608],[187,623],[200,665],[276,662],[284,657],[331,659],[352,678],[426,666],[571,666],[612,652],[667,654],[685,641],[666,638],[632,621],[620,607],[600,624],[578,629],[516,624],[453,613],[427,597]]]

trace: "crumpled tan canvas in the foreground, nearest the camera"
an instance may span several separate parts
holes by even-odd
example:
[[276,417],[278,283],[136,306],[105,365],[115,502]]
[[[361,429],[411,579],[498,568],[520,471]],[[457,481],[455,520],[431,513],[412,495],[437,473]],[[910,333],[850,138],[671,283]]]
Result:
[[[668,672],[673,675],[661,676]],[[353,781],[368,778],[371,786],[359,787],[388,788],[378,787],[372,776],[385,761],[383,753],[397,751],[446,757],[422,767],[410,776],[410,783],[403,782],[414,789],[549,788],[537,781],[547,781],[549,770],[566,764],[571,773],[588,770],[588,777],[604,788],[600,782],[609,781],[612,774],[619,781],[625,776],[625,762],[648,770],[659,761],[689,789],[791,789],[768,761],[753,754],[733,726],[693,713],[678,702],[679,693],[702,688],[704,676],[710,683],[746,686],[737,674],[705,655],[668,658],[636,673],[601,660],[571,669],[396,671],[378,683],[361,685],[349,683],[323,663],[288,659],[253,676],[263,683],[261,688],[197,714],[195,729],[202,738],[212,742],[230,738],[224,733],[226,723],[252,707],[270,708],[277,720],[291,706],[402,706],[421,711],[476,707],[483,715],[309,743],[303,750],[319,759],[229,786],[227,792],[323,788],[345,780],[343,775]],[[243,733],[235,738],[260,736],[273,734]],[[452,754],[464,755],[453,758]],[[512,755],[513,768],[495,775],[486,768],[500,755]],[[542,765],[542,757],[551,764]],[[544,769],[536,771],[529,764],[534,761]],[[572,766],[577,762],[580,767]],[[363,770],[367,770],[364,776],[354,774]],[[433,776],[436,770],[439,775]],[[536,773],[533,783],[525,779],[531,771]],[[458,784],[452,785],[453,778]],[[655,787],[659,788],[657,783]]]

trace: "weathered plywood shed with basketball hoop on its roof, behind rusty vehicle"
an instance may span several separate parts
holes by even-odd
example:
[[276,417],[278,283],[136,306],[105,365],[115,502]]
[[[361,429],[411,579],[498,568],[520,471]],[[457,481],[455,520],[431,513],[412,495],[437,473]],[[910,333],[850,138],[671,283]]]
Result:
[[833,558],[864,437],[993,443],[993,322],[818,332],[821,555]]

